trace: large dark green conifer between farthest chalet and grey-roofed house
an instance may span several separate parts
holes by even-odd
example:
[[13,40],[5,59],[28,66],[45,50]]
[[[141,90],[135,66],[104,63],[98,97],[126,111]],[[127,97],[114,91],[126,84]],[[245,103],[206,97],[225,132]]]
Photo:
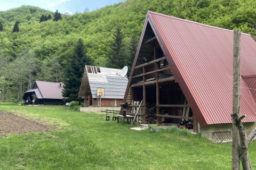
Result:
[[64,90],[62,95],[63,97],[67,97],[65,101],[69,102],[77,100],[83,77],[84,66],[91,65],[90,58],[86,56],[82,39],[78,40],[73,55],[68,58],[67,61],[68,65],[65,71],[65,80],[63,81]]

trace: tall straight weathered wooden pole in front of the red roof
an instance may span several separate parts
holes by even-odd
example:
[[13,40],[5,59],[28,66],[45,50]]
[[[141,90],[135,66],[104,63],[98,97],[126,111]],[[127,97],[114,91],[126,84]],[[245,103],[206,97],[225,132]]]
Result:
[[[234,45],[233,45],[233,114],[239,112],[240,107],[240,30],[234,30]],[[239,116],[239,115],[238,115]],[[232,118],[232,169],[240,169],[239,162],[239,133],[235,125],[235,120]]]

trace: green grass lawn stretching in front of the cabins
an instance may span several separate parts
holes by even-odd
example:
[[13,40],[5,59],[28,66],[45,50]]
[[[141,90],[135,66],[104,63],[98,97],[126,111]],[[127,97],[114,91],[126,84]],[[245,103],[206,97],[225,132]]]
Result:
[[[60,128],[0,137],[0,169],[231,169],[231,143],[212,143],[185,129],[134,131],[105,121],[105,114],[67,106],[0,105],[1,110]],[[255,146],[249,147],[254,168]]]

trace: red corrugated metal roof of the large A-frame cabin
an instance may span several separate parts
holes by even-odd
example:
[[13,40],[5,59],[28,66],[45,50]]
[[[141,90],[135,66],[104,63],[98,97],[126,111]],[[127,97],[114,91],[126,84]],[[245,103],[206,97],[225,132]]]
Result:
[[[231,123],[233,95],[233,31],[148,12],[175,78],[201,126]],[[241,35],[241,74],[256,74],[256,42]],[[246,87],[244,81],[241,86]],[[244,122],[256,121],[256,104],[241,90]]]

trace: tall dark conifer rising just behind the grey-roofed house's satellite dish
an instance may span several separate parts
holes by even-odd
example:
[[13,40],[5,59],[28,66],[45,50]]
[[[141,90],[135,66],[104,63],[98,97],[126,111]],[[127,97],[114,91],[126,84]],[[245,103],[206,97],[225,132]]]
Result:
[[122,69],[125,66],[124,54],[122,54],[123,48],[123,35],[121,28],[117,27],[114,33],[114,41],[110,46],[111,50],[108,56],[108,67],[115,69]]

